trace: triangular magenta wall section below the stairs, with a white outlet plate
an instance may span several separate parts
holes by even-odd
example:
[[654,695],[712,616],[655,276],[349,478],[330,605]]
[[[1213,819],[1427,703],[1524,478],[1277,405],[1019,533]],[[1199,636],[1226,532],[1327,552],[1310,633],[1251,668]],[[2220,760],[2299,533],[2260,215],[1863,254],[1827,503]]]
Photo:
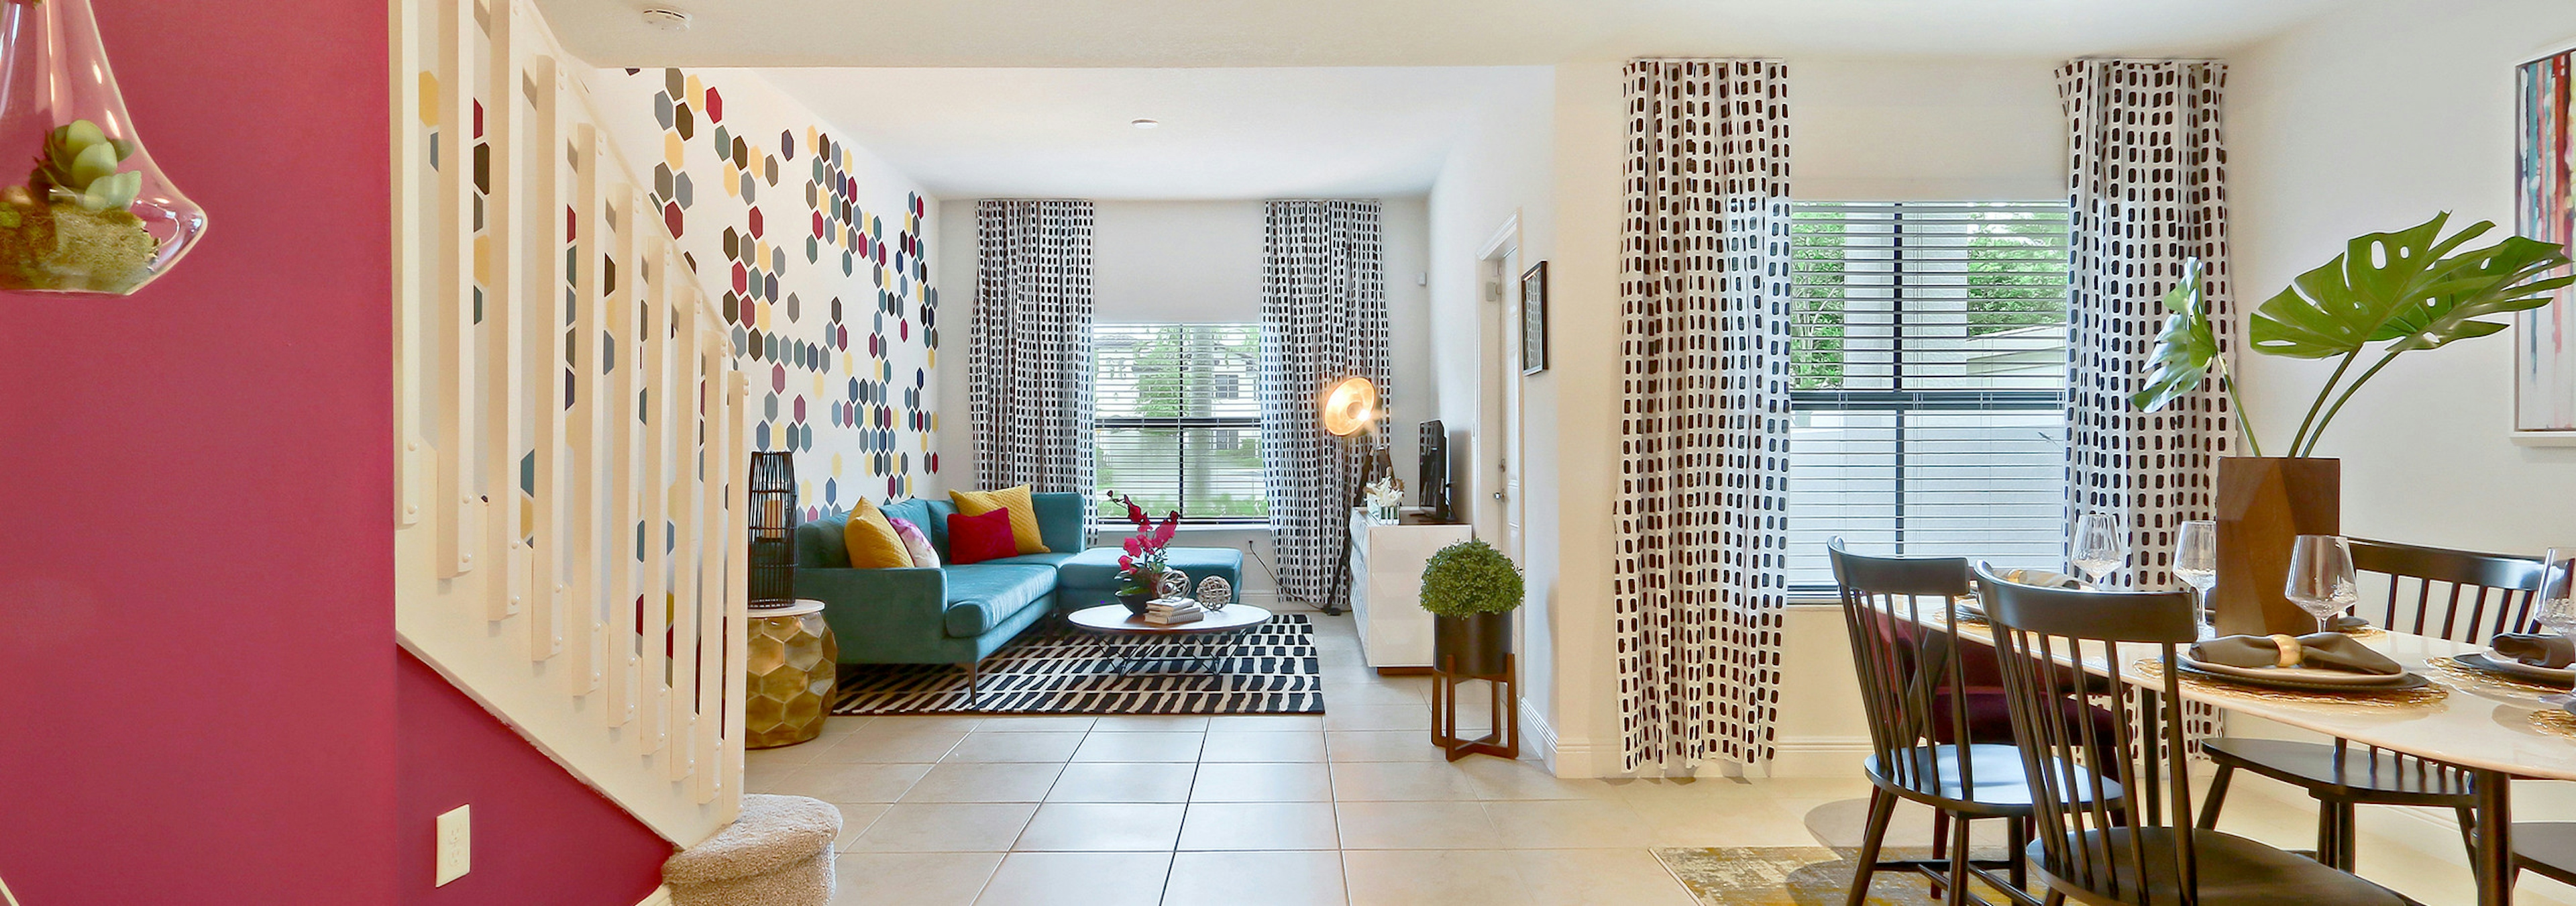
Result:
[[[404,906],[631,906],[662,883],[670,844],[598,795],[430,664],[402,654]],[[435,818],[474,806],[474,870],[435,880]],[[33,903],[28,903],[33,906]]]

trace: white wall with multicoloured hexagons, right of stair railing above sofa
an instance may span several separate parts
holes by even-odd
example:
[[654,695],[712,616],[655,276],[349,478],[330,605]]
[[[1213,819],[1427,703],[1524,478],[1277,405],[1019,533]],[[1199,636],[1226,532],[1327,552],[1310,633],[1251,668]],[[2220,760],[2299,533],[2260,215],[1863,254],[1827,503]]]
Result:
[[742,69],[600,69],[600,118],[752,376],[752,443],[796,453],[806,517],[927,492],[938,201]]

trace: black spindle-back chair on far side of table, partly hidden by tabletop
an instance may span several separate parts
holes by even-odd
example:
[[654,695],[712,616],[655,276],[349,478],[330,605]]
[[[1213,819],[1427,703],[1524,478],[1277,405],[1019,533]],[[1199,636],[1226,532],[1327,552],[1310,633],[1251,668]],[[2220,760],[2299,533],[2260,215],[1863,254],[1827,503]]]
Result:
[[[2540,561],[2504,553],[2424,548],[2411,543],[2352,538],[2352,569],[2372,595],[2362,615],[2372,623],[2465,643],[2496,633],[2524,631],[2532,618],[2532,592],[2540,587]],[[2372,579],[2378,577],[2378,579]],[[2460,839],[2476,865],[2478,793],[2468,772],[2411,754],[2287,739],[2205,739],[2200,752],[2218,764],[2200,826],[2218,826],[2228,782],[2239,770],[2272,777],[2316,798],[2316,860],[2352,870],[2352,806],[2432,806],[2460,816]]]

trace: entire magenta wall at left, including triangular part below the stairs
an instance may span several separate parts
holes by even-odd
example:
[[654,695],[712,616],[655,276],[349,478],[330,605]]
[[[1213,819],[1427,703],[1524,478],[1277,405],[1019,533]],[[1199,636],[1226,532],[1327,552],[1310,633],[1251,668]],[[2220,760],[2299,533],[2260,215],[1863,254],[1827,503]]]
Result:
[[[634,903],[670,849],[394,646],[384,3],[95,5],[211,229],[131,299],[0,293],[0,878]],[[482,847],[433,891],[459,795]]]

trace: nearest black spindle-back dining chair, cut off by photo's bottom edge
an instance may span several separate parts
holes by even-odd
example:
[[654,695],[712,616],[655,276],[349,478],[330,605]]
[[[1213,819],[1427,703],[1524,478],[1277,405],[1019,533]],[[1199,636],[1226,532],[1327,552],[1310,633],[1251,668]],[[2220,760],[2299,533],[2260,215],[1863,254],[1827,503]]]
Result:
[[[2012,584],[1978,566],[1994,625],[2012,734],[2038,818],[2030,862],[2048,901],[2128,906],[2406,906],[2388,888],[2259,842],[2200,829],[2182,757],[2177,649],[2197,638],[2192,592],[2092,592]],[[2112,739],[2092,721],[2058,721],[2074,682],[2058,659],[2123,674],[2105,695]],[[2125,806],[2110,790],[2128,790]]]

